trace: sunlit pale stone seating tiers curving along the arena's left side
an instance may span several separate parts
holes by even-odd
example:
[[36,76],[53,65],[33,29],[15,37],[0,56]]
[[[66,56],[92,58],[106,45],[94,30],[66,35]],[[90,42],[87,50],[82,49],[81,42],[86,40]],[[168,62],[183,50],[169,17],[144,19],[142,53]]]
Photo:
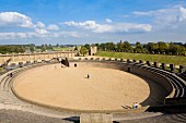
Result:
[[79,114],[75,113],[66,113],[60,112],[54,109],[48,109],[45,107],[36,106],[26,101],[23,101],[19,99],[12,91],[12,83],[11,81],[21,72],[24,72],[28,69],[33,69],[36,66],[45,65],[42,63],[36,63],[32,65],[27,65],[24,67],[20,67],[18,70],[10,71],[9,73],[12,73],[12,77],[7,74],[3,74],[0,76],[0,103],[2,103],[4,107],[3,109],[11,109],[11,110],[22,110],[22,111],[28,111],[34,112],[36,114],[47,115],[47,116],[54,116],[54,118],[69,118],[69,116],[79,116]]

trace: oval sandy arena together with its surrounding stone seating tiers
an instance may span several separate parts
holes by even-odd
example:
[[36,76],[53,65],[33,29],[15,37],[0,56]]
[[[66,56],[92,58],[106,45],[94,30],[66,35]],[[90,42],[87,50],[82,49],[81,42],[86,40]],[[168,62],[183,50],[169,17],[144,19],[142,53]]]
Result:
[[[26,62],[3,74],[2,107],[60,119],[112,114],[109,121],[117,121],[126,113],[175,111],[185,97],[182,78],[141,61],[69,58],[69,62],[65,69],[57,61]],[[133,102],[139,108],[131,109]]]

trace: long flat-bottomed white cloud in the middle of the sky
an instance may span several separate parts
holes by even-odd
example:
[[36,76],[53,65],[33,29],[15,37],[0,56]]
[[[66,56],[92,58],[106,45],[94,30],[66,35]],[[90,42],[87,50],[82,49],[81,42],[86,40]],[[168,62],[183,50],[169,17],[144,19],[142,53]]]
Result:
[[81,27],[90,29],[93,33],[135,33],[135,32],[150,32],[152,29],[150,24],[133,24],[133,23],[109,23],[97,24],[95,21],[85,22],[65,22],[67,26]]

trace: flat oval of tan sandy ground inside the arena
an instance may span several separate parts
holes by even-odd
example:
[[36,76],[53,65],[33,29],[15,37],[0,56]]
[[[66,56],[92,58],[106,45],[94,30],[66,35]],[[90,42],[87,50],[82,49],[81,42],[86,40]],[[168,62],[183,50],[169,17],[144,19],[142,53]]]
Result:
[[62,69],[60,64],[20,74],[14,88],[20,96],[37,102],[81,110],[124,109],[150,96],[149,84],[127,72],[86,66]]

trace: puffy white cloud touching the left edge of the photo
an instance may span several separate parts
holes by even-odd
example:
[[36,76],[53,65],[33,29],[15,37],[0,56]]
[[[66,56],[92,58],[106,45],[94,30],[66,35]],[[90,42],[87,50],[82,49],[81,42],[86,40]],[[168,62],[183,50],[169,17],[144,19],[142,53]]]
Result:
[[0,13],[0,26],[20,26],[20,27],[28,27],[32,28],[34,24],[32,23],[32,19],[18,13],[18,12],[1,12]]

